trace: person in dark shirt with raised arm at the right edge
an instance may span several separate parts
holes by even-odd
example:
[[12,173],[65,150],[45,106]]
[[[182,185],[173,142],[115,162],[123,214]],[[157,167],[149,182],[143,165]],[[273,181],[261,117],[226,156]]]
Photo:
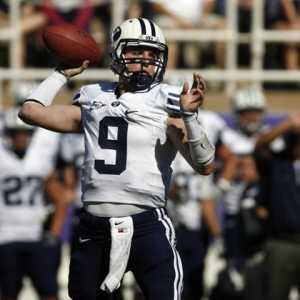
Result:
[[[276,153],[271,142],[282,136],[285,149]],[[261,204],[269,211],[265,277],[267,300],[288,299],[299,281],[300,262],[300,111],[296,111],[256,142],[262,176]]]

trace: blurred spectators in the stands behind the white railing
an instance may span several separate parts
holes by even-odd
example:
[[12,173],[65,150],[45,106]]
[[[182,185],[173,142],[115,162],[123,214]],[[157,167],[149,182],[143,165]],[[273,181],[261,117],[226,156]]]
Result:
[[[178,2],[178,3],[177,3]],[[19,28],[21,66],[45,68],[56,65],[42,41],[46,26],[71,23],[93,34],[103,52],[97,67],[108,65],[108,41],[112,23],[112,1],[109,0],[30,0],[21,1]],[[249,33],[252,28],[253,0],[237,0],[237,28]],[[226,29],[226,1],[189,0],[127,0],[125,16],[145,17],[166,29]],[[264,5],[265,28],[273,30],[299,30],[300,4],[297,0],[267,0]],[[0,28],[9,26],[10,1],[0,1]],[[122,9],[120,7],[120,9]],[[215,42],[180,42],[169,40],[168,69],[174,68],[224,68],[226,44]],[[251,60],[249,43],[238,45],[238,66],[249,66]],[[0,66],[8,66],[9,47],[0,43]],[[264,50],[264,68],[297,70],[299,68],[299,45],[297,42],[268,42]],[[291,87],[291,86],[290,86]]]

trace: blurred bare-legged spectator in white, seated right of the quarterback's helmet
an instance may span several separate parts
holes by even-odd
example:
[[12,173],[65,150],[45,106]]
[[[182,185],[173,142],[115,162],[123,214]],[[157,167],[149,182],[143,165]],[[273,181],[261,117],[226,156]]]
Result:
[[[152,4],[155,12],[154,20],[162,28],[165,29],[225,29],[225,21],[221,16],[213,14],[215,0],[188,0],[182,2],[180,0],[148,0]],[[199,32],[200,33],[200,32]],[[184,47],[190,47],[191,43],[184,43]],[[185,53],[183,50],[183,58],[189,67],[197,67],[199,65],[199,49],[194,50],[193,55]],[[199,46],[199,43],[197,43]],[[169,61],[168,68],[175,69],[179,66],[180,59],[180,43],[178,41],[168,41]],[[224,67],[225,60],[225,44],[223,41],[214,42],[215,64],[218,68]]]

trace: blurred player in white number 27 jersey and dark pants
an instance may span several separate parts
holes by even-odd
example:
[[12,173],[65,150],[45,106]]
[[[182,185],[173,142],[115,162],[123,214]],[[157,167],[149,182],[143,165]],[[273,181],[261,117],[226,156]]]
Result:
[[45,231],[44,193],[49,189],[52,199],[63,201],[53,175],[59,134],[25,124],[19,109],[5,111],[0,143],[1,299],[17,299],[23,277],[29,276],[41,299],[55,300],[64,215],[56,211]]

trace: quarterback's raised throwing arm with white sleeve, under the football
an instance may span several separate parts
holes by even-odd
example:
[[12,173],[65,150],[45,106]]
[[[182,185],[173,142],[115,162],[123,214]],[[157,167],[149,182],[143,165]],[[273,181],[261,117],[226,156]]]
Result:
[[75,105],[51,105],[56,94],[67,82],[67,77],[82,73],[88,66],[84,61],[79,68],[67,69],[60,65],[66,76],[54,72],[34,90],[19,111],[19,118],[27,124],[56,132],[82,132],[81,108]]

